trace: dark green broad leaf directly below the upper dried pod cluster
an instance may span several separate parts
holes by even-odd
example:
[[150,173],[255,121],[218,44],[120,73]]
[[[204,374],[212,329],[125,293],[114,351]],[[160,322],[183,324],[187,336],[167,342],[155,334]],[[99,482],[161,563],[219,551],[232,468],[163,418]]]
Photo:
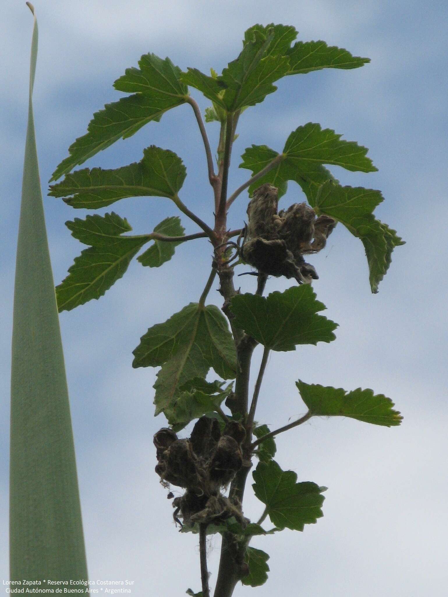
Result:
[[326,309],[316,300],[308,284],[293,286],[267,298],[238,294],[231,300],[233,324],[245,330],[263,346],[273,350],[295,350],[296,344],[317,344],[335,340],[338,324],[317,312]]

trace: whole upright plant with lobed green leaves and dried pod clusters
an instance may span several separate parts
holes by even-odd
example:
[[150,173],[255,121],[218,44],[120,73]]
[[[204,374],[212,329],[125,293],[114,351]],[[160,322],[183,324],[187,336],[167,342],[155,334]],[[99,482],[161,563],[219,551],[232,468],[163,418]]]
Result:
[[[154,436],[156,473],[162,485],[181,488],[174,498],[174,519],[184,532],[198,533],[202,590],[190,595],[208,597],[206,537],[222,536],[215,597],[230,597],[238,581],[252,587],[267,580],[268,555],[251,546],[255,536],[285,528],[303,531],[322,516],[325,487],[297,479],[274,460],[274,437],[314,416],[351,417],[364,423],[396,426],[400,413],[393,402],[370,389],[347,391],[324,387],[314,380],[298,380],[296,387],[307,407],[304,416],[276,430],[256,420],[258,399],[271,351],[295,350],[300,344],[335,340],[335,322],[322,315],[313,280],[318,273],[308,260],[325,247],[336,224],[345,226],[364,245],[373,293],[391,262],[391,253],[403,241],[395,230],[376,219],[373,211],[383,201],[381,192],[342,186],[327,167],[349,171],[376,171],[366,147],[341,139],[341,134],[315,122],[297,126],[283,149],[249,146],[240,168],[251,175],[237,189],[228,188],[231,153],[245,110],[276,91],[283,77],[303,76],[325,68],[354,69],[369,62],[323,41],[296,42],[292,26],[259,24],[245,32],[243,49],[218,75],[189,68],[183,72],[168,58],[145,54],[138,67],[127,69],[115,81],[129,93],[96,112],[87,133],[69,147],[69,156],[56,168],[50,195],[75,209],[95,210],[121,199],[143,196],[172,201],[173,215],[146,234],[132,235],[124,217],[114,211],[67,221],[72,236],[88,245],[56,288],[59,310],[70,310],[98,299],[123,276],[130,261],[160,267],[185,242],[202,243],[214,254],[208,279],[196,302],[187,304],[163,323],[150,327],[134,350],[134,367],[160,367],[155,388],[155,414],[167,423]],[[216,162],[206,124],[189,88],[199,91],[211,106],[205,122],[217,122],[220,137]],[[140,162],[113,170],[77,165],[141,127],[159,121],[168,110],[189,104],[205,149],[206,176],[211,185],[209,214],[194,213],[191,198],[181,189],[186,167],[169,149],[150,145]],[[267,139],[268,141],[268,139]],[[298,185],[299,200],[279,205],[289,181]],[[246,201],[243,193],[248,193]],[[236,200],[239,199],[238,202]],[[234,205],[235,204],[235,205]],[[229,230],[227,215],[236,212],[241,226]],[[197,232],[184,234],[181,218],[190,219]],[[148,246],[149,245],[149,246]],[[254,275],[254,291],[241,294],[234,272]],[[251,269],[248,272],[248,269]],[[196,274],[194,274],[196,275]],[[284,292],[275,290],[276,278],[291,280]],[[218,286],[221,309],[208,304]],[[269,293],[265,296],[265,288]],[[194,298],[194,297],[193,297]],[[261,366],[251,388],[252,353],[263,348]],[[210,377],[214,371],[214,377]],[[180,432],[194,422],[189,436]],[[251,519],[243,498],[249,471],[255,496],[264,504],[258,521]],[[273,527],[265,528],[269,518]]]

